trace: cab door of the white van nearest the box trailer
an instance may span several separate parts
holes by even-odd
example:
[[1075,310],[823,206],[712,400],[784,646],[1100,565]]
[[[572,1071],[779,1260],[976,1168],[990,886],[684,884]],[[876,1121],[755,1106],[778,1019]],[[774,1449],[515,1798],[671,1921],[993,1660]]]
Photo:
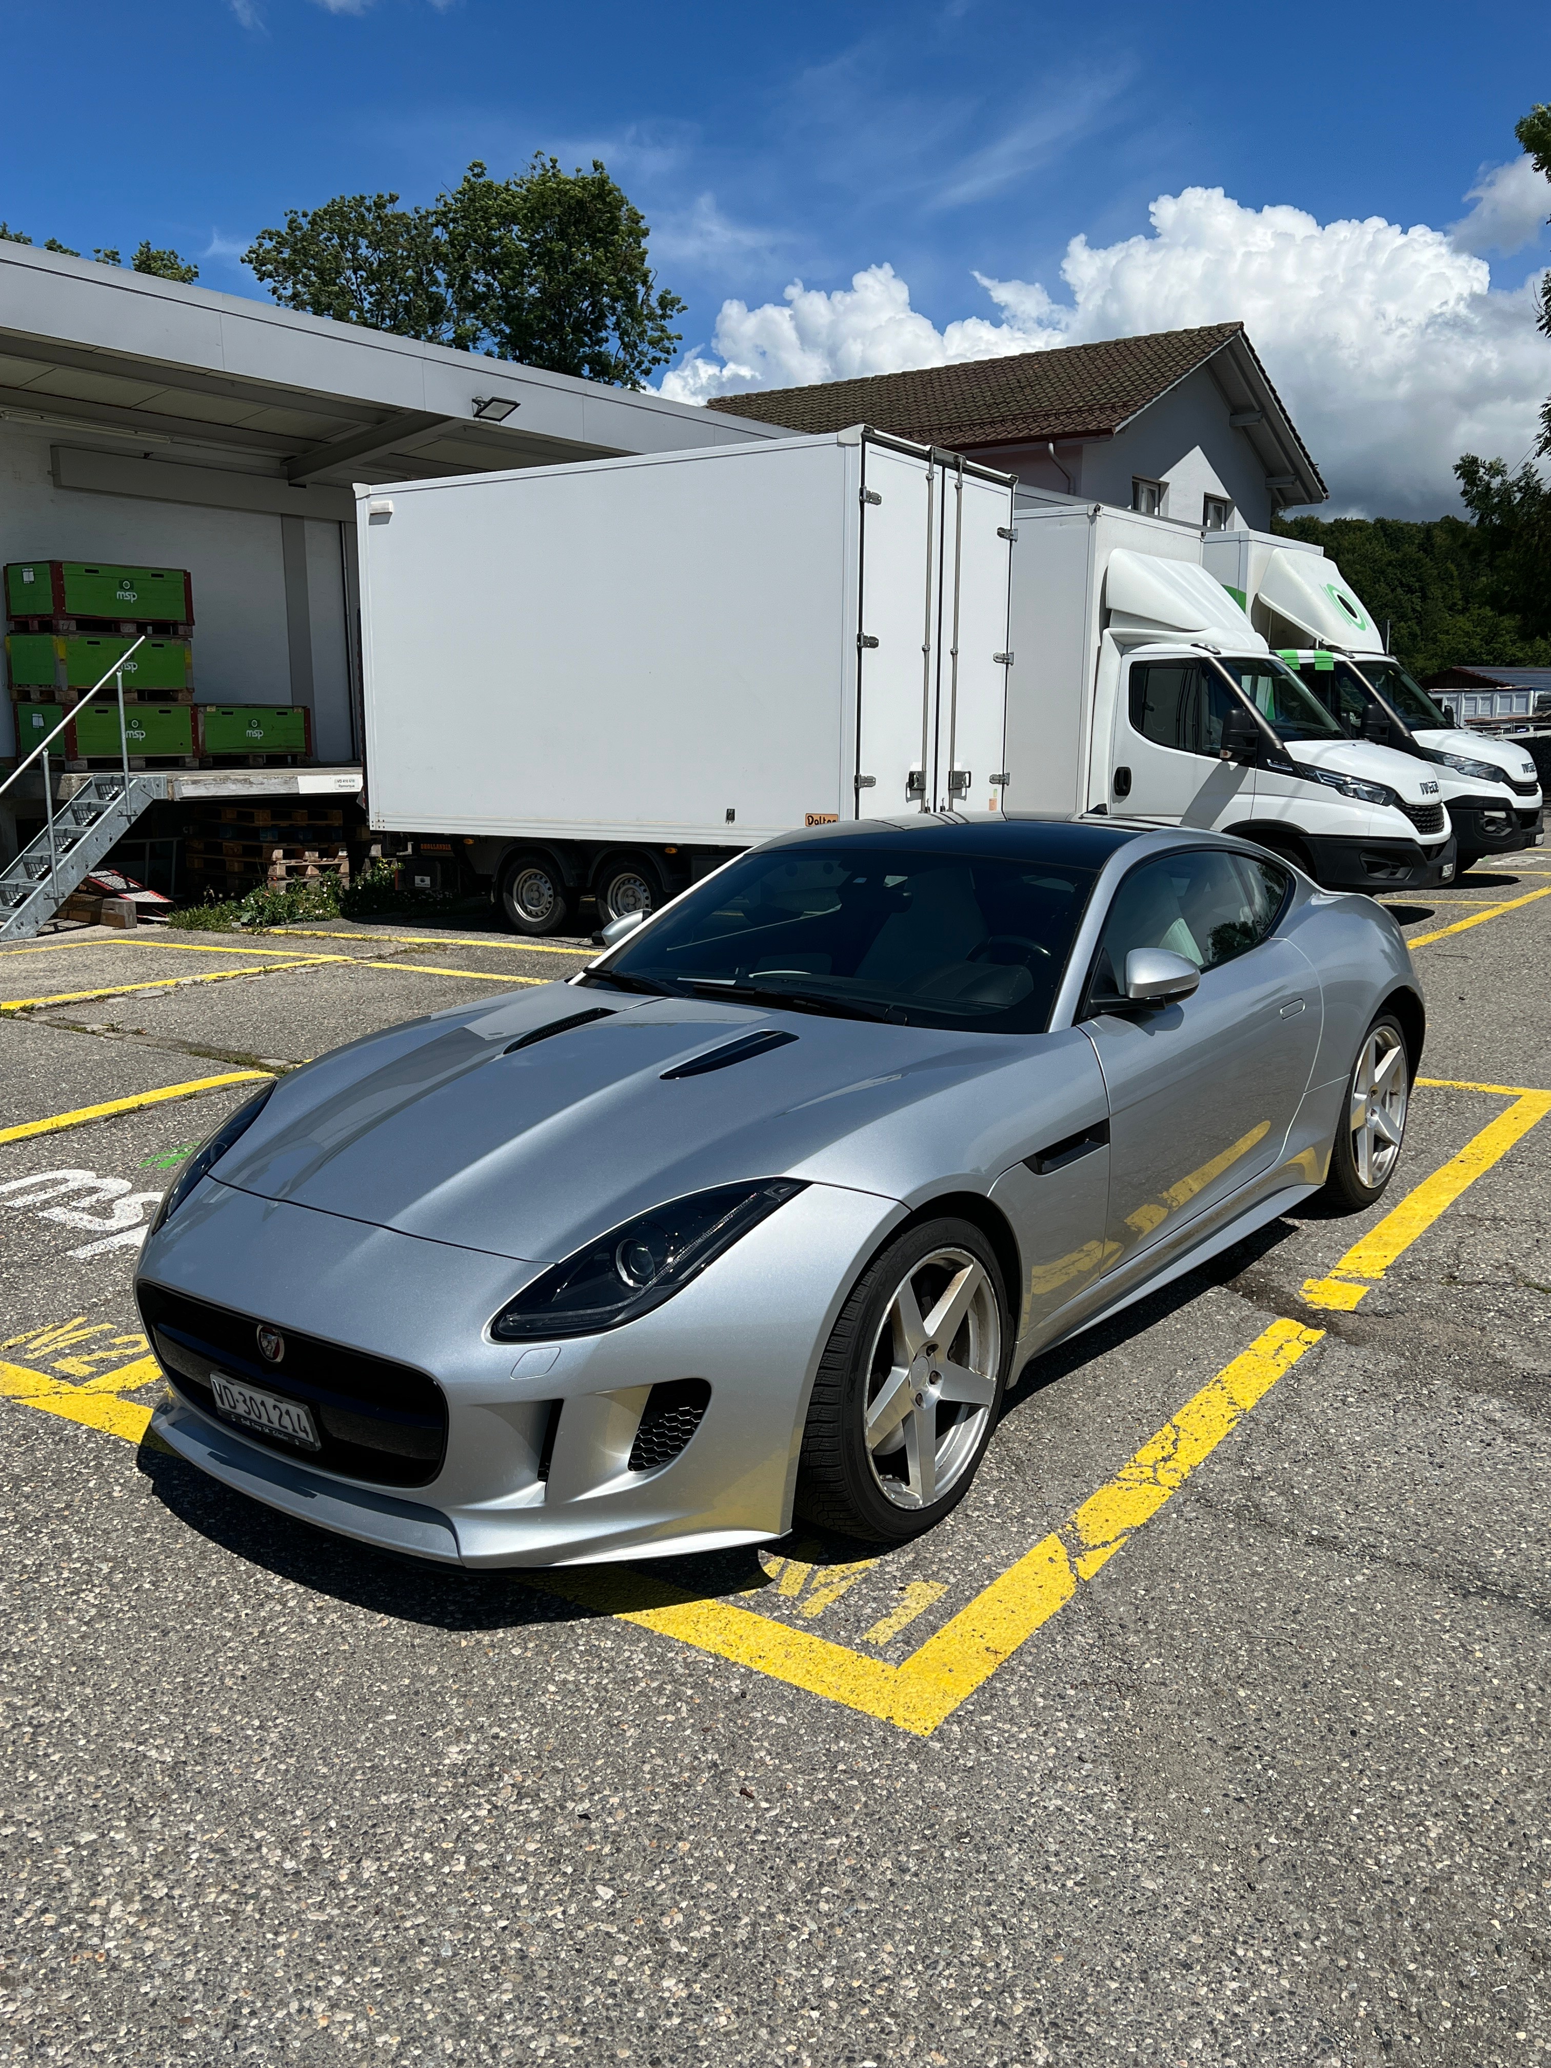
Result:
[[1133,660],[1115,713],[1111,811],[1156,825],[1228,825],[1255,771],[1222,759],[1226,682],[1189,656]]

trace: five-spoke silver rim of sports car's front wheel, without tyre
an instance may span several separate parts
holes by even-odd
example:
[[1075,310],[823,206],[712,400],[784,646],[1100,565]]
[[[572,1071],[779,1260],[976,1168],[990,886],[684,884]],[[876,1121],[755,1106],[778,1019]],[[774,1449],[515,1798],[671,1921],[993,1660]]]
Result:
[[866,1462],[895,1508],[931,1508],[974,1464],[1001,1371],[984,1266],[937,1249],[893,1292],[873,1342]]

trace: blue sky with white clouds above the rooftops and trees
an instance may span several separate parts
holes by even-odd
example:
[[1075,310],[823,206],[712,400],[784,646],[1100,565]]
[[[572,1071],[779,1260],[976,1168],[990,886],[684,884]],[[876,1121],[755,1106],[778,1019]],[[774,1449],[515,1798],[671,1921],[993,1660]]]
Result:
[[[83,64],[68,85],[54,70],[33,72],[19,91],[12,77],[0,215],[85,252],[128,250],[143,236],[174,244],[199,258],[205,285],[256,292],[238,252],[285,207],[362,188],[428,201],[472,157],[509,172],[546,149],[567,163],[604,157],[647,213],[660,277],[691,304],[685,343],[701,347],[707,393],[780,383],[794,366],[811,376],[986,347],[980,333],[931,345],[929,333],[945,337],[964,318],[1001,327],[989,349],[1094,327],[1113,335],[1117,325],[1216,321],[1218,302],[1212,314],[1206,302],[1235,292],[1247,298],[1251,335],[1278,376],[1282,312],[1268,281],[1280,269],[1288,306],[1330,296],[1332,279],[1344,283],[1359,339],[1367,323],[1404,327],[1408,306],[1431,296],[1429,349],[1450,391],[1458,370],[1437,325],[1456,321],[1450,296],[1464,294],[1489,349],[1479,393],[1454,393],[1443,443],[1477,430],[1508,443],[1520,418],[1528,443],[1532,428],[1522,405],[1534,360],[1514,345],[1512,368],[1499,364],[1516,321],[1510,300],[1551,258],[1522,184],[1493,219],[1477,207],[1474,232],[1464,234],[1472,254],[1460,258],[1452,287],[1433,277],[1433,246],[1390,240],[1373,261],[1390,271],[1390,300],[1369,306],[1363,283],[1352,285],[1350,240],[1340,263],[1324,240],[1324,258],[1309,269],[1309,234],[1297,225],[1282,248],[1309,265],[1286,271],[1272,252],[1259,285],[1222,275],[1241,242],[1235,225],[1257,234],[1272,223],[1259,215],[1268,207],[1305,211],[1321,234],[1361,219],[1443,234],[1468,217],[1466,194],[1483,168],[1518,157],[1514,120],[1532,99],[1551,99],[1543,0],[1470,10],[1433,0],[1243,10],[802,0],[776,12],[653,12],[612,0],[587,10],[500,0],[165,0],[136,14],[10,0],[6,14],[12,48],[41,58],[64,41]],[[1146,292],[1133,279],[1139,248],[1106,261],[1102,292],[1090,283],[1090,312],[1075,325],[1059,314],[1067,325],[1059,337],[1046,337],[1048,323],[1040,331],[1034,283],[1063,310],[1073,304],[1061,273],[1069,240],[1082,236],[1098,252],[1156,240],[1150,207],[1195,188],[1222,188],[1241,215],[1204,227],[1197,209],[1177,227],[1181,250],[1152,265]],[[1551,213],[1551,188],[1539,213]],[[1518,244],[1512,252],[1483,244],[1501,221]],[[1481,261],[1491,267],[1489,290]],[[883,265],[904,283],[914,318],[910,335],[893,325],[893,341],[871,302],[825,300]],[[1131,269],[1129,287],[1117,267]],[[1187,292],[1191,271],[1210,281]],[[995,300],[976,273],[1011,283],[1022,300]],[[819,294],[798,339],[807,356],[782,333],[759,358],[759,327],[738,331],[736,312],[718,337],[728,300],[769,310],[769,335],[771,325],[790,329],[782,310],[794,279]],[[898,304],[902,290],[887,292]],[[1474,352],[1481,335],[1472,337]],[[1299,387],[1321,354],[1292,333],[1286,349],[1286,366],[1301,370],[1280,378],[1303,422]],[[1427,364],[1419,362],[1423,385]],[[1551,347],[1545,366],[1541,393],[1551,389]],[[1491,414],[1493,387],[1516,391],[1506,416],[1501,393]],[[1369,467],[1350,492],[1371,500],[1388,482],[1392,503],[1410,509],[1431,492],[1419,480]]]

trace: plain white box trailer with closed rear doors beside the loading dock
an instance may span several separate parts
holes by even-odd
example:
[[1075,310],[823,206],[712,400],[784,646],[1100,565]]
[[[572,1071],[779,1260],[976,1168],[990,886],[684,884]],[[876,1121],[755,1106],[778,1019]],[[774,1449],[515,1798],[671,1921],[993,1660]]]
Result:
[[997,811],[1011,521],[1011,476],[862,428],[358,488],[370,823],[542,935],[790,827]]

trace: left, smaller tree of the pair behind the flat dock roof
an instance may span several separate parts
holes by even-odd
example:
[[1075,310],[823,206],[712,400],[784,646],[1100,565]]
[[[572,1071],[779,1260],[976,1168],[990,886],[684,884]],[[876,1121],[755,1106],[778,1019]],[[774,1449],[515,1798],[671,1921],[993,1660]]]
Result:
[[283,308],[451,343],[434,215],[397,203],[337,194],[318,209],[287,209],[285,227],[261,230],[242,263]]

